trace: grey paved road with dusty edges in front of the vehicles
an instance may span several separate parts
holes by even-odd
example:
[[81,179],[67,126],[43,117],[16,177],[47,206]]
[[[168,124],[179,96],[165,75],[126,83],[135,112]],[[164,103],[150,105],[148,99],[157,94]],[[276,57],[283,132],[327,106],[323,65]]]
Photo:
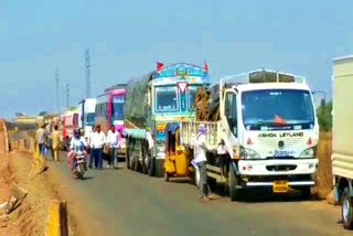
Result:
[[199,202],[189,183],[120,170],[90,170],[74,179],[65,162],[49,163],[57,192],[74,212],[82,235],[352,235],[339,224],[339,207],[298,199]]

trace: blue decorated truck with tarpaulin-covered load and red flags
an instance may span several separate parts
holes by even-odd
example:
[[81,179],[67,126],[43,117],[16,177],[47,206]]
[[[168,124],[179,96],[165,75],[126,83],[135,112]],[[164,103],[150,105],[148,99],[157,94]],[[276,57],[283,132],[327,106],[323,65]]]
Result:
[[210,85],[206,63],[204,67],[158,63],[156,71],[128,82],[124,107],[128,169],[164,175],[167,125],[194,119],[196,90]]

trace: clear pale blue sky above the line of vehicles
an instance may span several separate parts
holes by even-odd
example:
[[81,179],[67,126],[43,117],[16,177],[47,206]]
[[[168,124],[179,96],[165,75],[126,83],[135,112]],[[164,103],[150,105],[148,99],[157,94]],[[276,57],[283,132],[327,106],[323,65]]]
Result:
[[214,82],[258,68],[303,75],[331,98],[332,58],[353,54],[352,0],[1,0],[0,117],[55,110],[146,74],[208,64]]

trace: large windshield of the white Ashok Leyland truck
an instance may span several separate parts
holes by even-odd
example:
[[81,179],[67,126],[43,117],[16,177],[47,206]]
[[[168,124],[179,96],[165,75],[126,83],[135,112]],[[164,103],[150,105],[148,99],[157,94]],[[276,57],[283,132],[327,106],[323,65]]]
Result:
[[244,92],[242,112],[248,130],[312,129],[314,125],[313,106],[308,90]]

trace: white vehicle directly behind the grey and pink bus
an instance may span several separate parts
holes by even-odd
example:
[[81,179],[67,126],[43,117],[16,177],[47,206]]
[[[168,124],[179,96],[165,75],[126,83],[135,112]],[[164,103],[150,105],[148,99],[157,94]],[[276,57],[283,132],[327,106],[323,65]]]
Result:
[[86,98],[79,101],[78,107],[78,127],[85,132],[85,138],[88,138],[93,132],[95,125],[96,98]]

